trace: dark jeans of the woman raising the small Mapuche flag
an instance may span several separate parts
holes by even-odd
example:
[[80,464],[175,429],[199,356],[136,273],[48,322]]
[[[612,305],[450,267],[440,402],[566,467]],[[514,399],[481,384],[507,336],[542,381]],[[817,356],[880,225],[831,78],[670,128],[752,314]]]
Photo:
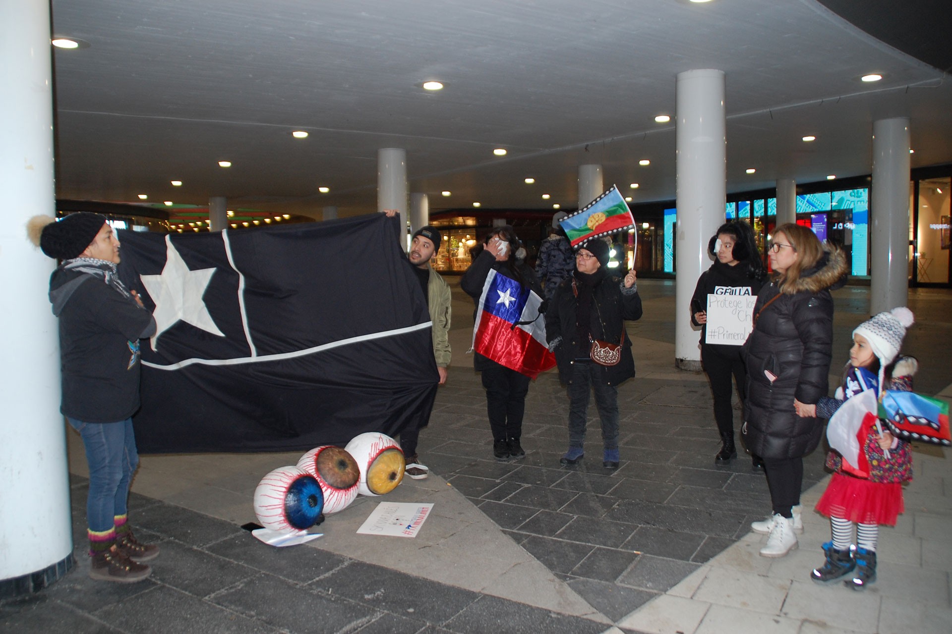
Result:
[[618,449],[618,388],[605,385],[602,369],[595,363],[575,361],[568,384],[568,446],[581,448],[585,442],[588,394],[595,392],[595,406],[602,419],[605,449]]

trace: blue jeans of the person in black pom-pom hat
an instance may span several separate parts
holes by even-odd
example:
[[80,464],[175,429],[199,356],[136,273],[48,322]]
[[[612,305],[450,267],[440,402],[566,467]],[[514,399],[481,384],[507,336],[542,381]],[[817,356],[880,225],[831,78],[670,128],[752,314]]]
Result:
[[83,436],[89,464],[89,497],[86,522],[93,532],[115,528],[114,517],[125,515],[129,482],[139,465],[132,419],[117,423],[85,423],[67,417],[69,425]]

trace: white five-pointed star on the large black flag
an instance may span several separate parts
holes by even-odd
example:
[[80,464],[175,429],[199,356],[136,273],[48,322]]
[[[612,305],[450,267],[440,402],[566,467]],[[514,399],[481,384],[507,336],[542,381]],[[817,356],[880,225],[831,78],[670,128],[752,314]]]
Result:
[[169,236],[166,236],[166,265],[162,275],[139,276],[149,297],[155,302],[155,335],[151,337],[152,350],[162,333],[178,323],[186,321],[212,335],[225,336],[208,315],[208,307],[202,296],[215,269],[191,271],[179,255]]

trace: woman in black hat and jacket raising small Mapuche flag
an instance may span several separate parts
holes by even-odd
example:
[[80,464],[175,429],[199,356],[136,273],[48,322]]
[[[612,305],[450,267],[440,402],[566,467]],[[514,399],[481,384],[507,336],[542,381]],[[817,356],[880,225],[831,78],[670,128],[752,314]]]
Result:
[[[596,238],[575,254],[575,272],[555,290],[545,313],[545,336],[568,386],[568,451],[560,463],[574,465],[585,455],[588,394],[594,390],[602,420],[602,465],[618,469],[618,384],[635,375],[625,319],[642,317],[637,276],[609,274],[608,244]],[[608,344],[608,345],[604,345]],[[614,349],[614,350],[612,350]]]

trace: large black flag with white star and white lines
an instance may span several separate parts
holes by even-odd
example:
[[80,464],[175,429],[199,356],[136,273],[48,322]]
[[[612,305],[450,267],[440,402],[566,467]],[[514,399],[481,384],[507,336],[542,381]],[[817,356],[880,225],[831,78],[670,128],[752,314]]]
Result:
[[426,299],[383,214],[241,231],[120,232],[153,311],[139,450],[304,451],[426,425]]

